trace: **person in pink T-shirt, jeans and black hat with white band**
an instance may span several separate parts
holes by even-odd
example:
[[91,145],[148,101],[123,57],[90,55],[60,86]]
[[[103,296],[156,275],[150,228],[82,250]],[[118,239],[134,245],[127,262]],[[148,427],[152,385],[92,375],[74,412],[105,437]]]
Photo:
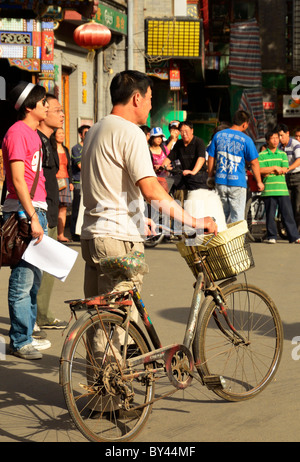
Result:
[[[47,116],[46,91],[39,85],[21,82],[8,99],[18,113],[2,143],[8,195],[3,205],[5,221],[16,212],[30,221],[31,236],[38,244],[47,233],[45,178],[41,169],[41,141],[37,127]],[[14,262],[8,287],[8,305],[11,320],[9,332],[12,353],[23,359],[40,359],[51,346],[49,340],[33,339],[37,315],[36,296],[42,272],[20,260]]]

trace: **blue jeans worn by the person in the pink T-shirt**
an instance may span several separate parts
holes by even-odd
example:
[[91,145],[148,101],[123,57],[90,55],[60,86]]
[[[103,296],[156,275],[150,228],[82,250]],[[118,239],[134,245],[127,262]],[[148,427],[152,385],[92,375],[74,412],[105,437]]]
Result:
[[[36,209],[39,222],[47,234],[46,212]],[[3,213],[4,220],[10,213]],[[10,346],[19,350],[32,342],[32,332],[37,315],[36,296],[40,288],[42,271],[36,266],[21,260],[11,270],[8,285],[8,308],[11,327],[9,331]]]

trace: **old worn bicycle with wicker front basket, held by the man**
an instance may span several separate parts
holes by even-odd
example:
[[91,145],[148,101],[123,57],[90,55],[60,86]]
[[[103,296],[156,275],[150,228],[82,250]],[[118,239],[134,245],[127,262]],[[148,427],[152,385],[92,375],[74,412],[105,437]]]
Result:
[[[185,390],[193,380],[227,401],[253,398],[271,382],[282,354],[282,323],[264,291],[235,282],[254,261],[245,222],[230,227],[225,243],[219,233],[205,236],[202,245],[188,247],[185,237],[177,244],[196,278],[182,344],[162,346],[134,285],[66,301],[76,322],[64,342],[60,384],[70,416],[88,440],[132,440],[157,400]],[[140,255],[102,263],[103,271],[117,269],[123,280],[145,265]],[[144,331],[131,319],[133,303]],[[160,380],[172,389],[156,397]]]

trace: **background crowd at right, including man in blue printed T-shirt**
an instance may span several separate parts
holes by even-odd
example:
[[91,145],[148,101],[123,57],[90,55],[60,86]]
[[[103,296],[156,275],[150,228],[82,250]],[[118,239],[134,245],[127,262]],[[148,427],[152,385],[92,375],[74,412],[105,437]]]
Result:
[[237,111],[232,124],[219,124],[208,146],[194,135],[193,124],[188,120],[172,121],[168,139],[160,127],[141,128],[146,136],[148,134],[149,150],[158,175],[162,167],[164,175],[165,169],[182,168],[176,197],[192,215],[204,216],[208,211],[216,215],[219,231],[226,229],[228,222],[243,220],[249,193],[248,170],[265,203],[265,242],[276,243],[275,217],[279,210],[289,242],[299,244],[300,130],[296,129],[292,138],[288,127],[279,124],[268,130],[266,143],[258,152],[245,133],[249,120],[248,113]]

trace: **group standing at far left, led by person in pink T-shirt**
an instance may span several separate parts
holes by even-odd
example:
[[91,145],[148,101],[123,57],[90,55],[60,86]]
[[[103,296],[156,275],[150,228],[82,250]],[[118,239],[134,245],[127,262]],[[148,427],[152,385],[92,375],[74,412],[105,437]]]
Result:
[[[71,191],[76,177],[64,145],[62,106],[55,95],[28,82],[17,85],[8,99],[16,111],[17,122],[2,142],[6,172],[3,219],[23,210],[31,221],[31,234],[37,244],[44,234],[67,242],[66,210],[72,204]],[[80,130],[82,128],[79,133]],[[73,164],[76,162],[77,159]],[[37,170],[38,183],[31,199],[29,191]],[[23,260],[12,268],[8,287],[9,335],[10,348],[16,356],[42,358],[41,351],[51,347],[44,329],[66,327],[67,323],[55,318],[50,310],[53,285],[53,276]]]

